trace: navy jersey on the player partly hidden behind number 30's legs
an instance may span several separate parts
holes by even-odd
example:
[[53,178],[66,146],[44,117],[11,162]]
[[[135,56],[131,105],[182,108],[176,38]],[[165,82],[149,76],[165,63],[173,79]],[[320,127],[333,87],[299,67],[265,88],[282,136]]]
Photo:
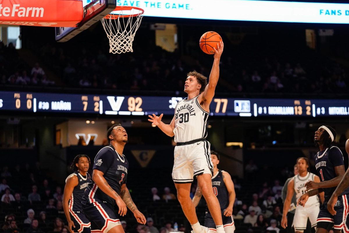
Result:
[[[224,172],[223,170],[218,170],[217,174],[212,176],[211,178],[213,193],[216,195],[218,199],[218,202],[221,206],[222,214],[229,205],[229,193],[223,180],[223,174],[222,174],[223,172]],[[210,211],[208,211],[207,205],[206,205],[206,217],[212,218]]]

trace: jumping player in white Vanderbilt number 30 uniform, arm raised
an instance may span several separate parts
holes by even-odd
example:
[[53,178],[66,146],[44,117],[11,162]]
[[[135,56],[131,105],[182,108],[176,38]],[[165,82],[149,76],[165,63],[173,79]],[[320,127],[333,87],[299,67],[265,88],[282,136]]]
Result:
[[217,43],[217,49],[214,49],[214,61],[208,84],[207,78],[196,71],[187,74],[184,92],[188,94],[188,97],[177,103],[170,124],[161,121],[163,114],[149,115],[150,119],[148,119],[166,135],[174,136],[174,141],[177,143],[174,148],[172,179],[177,189],[178,201],[194,233],[209,231],[207,227],[199,224],[194,204],[190,199],[190,187],[194,176],[198,179],[198,185],[206,199],[217,232],[224,233],[221,208],[213,193],[211,183],[213,165],[210,160],[210,143],[206,141],[206,123],[219,78],[219,63],[223,46],[223,42],[220,42]]

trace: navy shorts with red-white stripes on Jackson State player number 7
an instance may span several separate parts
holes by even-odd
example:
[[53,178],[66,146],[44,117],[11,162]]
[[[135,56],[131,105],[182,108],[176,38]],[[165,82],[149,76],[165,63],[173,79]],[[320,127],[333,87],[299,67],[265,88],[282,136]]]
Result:
[[85,203],[82,205],[87,219],[91,222],[92,233],[106,233],[111,228],[121,225],[112,205],[106,202]]

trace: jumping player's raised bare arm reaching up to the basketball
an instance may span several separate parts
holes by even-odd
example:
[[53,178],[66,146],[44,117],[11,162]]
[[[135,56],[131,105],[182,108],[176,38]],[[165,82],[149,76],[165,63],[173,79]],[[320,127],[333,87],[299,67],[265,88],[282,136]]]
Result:
[[217,86],[218,78],[219,78],[219,63],[221,60],[221,55],[223,52],[224,44],[221,41],[220,43],[217,43],[217,49],[213,48],[215,50],[215,54],[213,55],[213,65],[210,73],[210,77],[208,80],[208,84],[203,91],[202,94],[198,97],[198,101],[200,104],[204,105],[205,108],[208,108],[213,96],[215,95],[215,89]]

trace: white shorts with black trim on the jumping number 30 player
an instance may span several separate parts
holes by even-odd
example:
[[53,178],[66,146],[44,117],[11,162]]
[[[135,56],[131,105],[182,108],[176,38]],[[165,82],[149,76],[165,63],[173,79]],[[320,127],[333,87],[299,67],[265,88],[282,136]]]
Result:
[[172,179],[174,183],[191,183],[194,176],[213,174],[210,143],[199,141],[196,143],[174,147],[174,163]]

